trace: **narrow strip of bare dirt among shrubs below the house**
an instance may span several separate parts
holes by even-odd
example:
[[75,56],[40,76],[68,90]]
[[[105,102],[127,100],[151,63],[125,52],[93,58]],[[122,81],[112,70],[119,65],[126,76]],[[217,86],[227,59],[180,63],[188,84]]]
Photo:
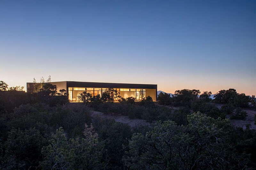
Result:
[[146,122],[143,119],[131,119],[128,116],[123,116],[123,115],[109,115],[109,114],[104,114],[102,112],[96,112],[93,111],[92,112],[92,117],[96,116],[96,115],[100,115],[102,118],[105,119],[114,119],[116,122],[121,122],[121,123],[125,123],[130,125],[132,128],[138,125],[148,125],[151,126],[151,123]]

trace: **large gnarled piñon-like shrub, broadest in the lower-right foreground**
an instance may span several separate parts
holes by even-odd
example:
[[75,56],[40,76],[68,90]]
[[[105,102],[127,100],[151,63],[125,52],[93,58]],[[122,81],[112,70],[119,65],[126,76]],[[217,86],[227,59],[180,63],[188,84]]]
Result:
[[238,153],[230,143],[231,131],[227,119],[200,113],[188,115],[185,126],[157,122],[146,135],[133,134],[124,161],[131,169],[247,168],[250,157]]

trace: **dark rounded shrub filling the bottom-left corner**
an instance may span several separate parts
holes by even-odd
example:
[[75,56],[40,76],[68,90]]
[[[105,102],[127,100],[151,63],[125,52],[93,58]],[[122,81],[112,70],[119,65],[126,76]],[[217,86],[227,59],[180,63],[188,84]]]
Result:
[[29,169],[37,167],[42,160],[41,149],[46,140],[35,128],[26,130],[12,128],[2,147],[4,154],[0,167],[3,169]]

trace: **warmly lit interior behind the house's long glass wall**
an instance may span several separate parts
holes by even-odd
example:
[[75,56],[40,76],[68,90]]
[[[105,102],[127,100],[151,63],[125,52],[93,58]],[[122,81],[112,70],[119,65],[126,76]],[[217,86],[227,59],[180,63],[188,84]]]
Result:
[[[101,94],[106,90],[107,88],[93,88],[93,87],[68,87],[68,100],[77,102],[77,95],[79,93],[82,93],[84,91],[91,93],[92,96],[96,96],[98,94]],[[154,92],[156,95],[155,89],[129,89],[129,88],[114,88],[119,93],[120,97],[128,98],[133,97],[135,100],[142,100],[143,98],[146,98],[146,93],[148,91],[148,96],[154,96]],[[152,97],[153,98],[153,97]],[[115,98],[115,101],[117,101],[118,98]],[[154,100],[154,99],[153,99]]]

